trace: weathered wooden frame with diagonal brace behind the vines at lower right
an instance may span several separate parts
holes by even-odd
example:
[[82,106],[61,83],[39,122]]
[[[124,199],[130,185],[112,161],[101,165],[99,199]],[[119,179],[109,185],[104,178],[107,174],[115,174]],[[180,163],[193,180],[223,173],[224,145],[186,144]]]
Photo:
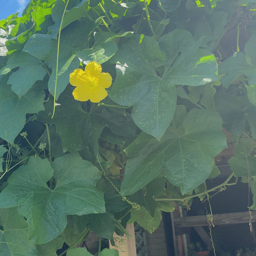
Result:
[[[219,177],[228,177],[231,173],[228,161],[233,156],[234,146],[231,141],[229,132],[224,131],[227,136],[228,148],[225,148],[219,155],[215,157],[215,163],[218,166],[221,174]],[[187,256],[187,236],[189,229],[194,228],[196,233],[201,237],[202,241],[212,250],[212,242],[208,233],[203,229],[203,226],[209,226],[206,215],[183,216],[184,212],[175,209],[171,213],[171,221],[173,228],[173,239],[175,247],[175,256]],[[250,216],[251,214],[251,216]],[[219,213],[213,215],[213,223],[215,226],[240,224],[256,222],[256,211]],[[248,226],[249,229],[249,226]]]

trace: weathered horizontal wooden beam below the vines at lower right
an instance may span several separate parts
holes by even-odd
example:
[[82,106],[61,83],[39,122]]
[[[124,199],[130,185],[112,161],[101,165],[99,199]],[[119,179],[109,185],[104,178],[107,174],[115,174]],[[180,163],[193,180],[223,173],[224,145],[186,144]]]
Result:
[[[256,211],[251,211],[252,222],[256,222]],[[175,228],[208,226],[207,216],[186,216],[173,218]],[[214,225],[249,223],[249,212],[222,213],[213,215]]]

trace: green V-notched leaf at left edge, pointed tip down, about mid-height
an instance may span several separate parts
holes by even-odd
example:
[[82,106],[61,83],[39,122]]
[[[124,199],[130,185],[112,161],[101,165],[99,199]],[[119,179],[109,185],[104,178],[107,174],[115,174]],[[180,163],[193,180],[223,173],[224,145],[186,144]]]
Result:
[[0,82],[0,138],[12,144],[26,123],[26,114],[44,109],[43,89],[44,83],[38,81],[19,99],[10,86]]

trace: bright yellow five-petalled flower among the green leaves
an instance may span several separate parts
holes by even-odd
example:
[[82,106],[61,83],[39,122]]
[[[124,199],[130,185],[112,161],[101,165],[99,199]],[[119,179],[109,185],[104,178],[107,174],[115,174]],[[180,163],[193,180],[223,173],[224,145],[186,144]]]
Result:
[[75,100],[100,102],[108,95],[105,88],[110,87],[112,77],[101,73],[101,65],[93,61],[86,65],[84,71],[75,69],[69,76],[69,82],[76,87],[73,91]]

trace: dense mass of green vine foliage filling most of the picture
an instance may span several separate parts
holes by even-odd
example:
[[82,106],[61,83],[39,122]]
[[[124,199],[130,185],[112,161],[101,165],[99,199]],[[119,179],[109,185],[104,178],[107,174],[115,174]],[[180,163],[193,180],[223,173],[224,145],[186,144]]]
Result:
[[[90,230],[111,240],[137,221],[153,232],[160,210],[233,176],[256,209],[255,10],[255,0],[30,0],[1,20],[1,254],[54,256],[65,242],[67,256],[90,255],[75,248]],[[91,63],[105,98],[77,101],[70,74]],[[232,174],[206,188],[227,134]]]

